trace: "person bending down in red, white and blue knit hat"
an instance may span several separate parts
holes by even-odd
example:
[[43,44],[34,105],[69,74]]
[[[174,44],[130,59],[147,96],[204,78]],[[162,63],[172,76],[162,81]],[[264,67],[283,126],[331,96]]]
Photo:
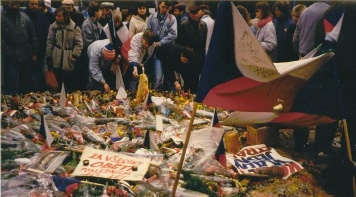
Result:
[[109,39],[94,41],[88,47],[89,89],[110,91],[115,87],[116,76],[110,71],[115,59],[115,49]]

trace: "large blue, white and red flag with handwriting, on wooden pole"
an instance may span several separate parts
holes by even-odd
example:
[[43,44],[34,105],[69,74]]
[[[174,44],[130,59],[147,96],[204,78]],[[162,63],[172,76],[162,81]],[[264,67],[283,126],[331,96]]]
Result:
[[272,63],[234,4],[225,1],[210,44],[196,101],[240,112],[273,112],[279,100],[290,111],[298,90],[334,55],[315,56],[315,49],[302,60]]

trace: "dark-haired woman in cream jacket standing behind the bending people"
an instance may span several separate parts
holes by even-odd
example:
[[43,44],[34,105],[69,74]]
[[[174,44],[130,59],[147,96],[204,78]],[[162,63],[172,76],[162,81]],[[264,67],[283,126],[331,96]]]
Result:
[[148,16],[149,12],[147,4],[144,1],[140,1],[136,6],[136,13],[132,16],[130,21],[130,37],[133,37],[135,34],[144,31]]

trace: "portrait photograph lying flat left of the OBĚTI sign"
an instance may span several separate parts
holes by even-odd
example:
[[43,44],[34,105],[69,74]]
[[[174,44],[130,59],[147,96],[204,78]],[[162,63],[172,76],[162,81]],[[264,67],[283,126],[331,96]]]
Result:
[[35,163],[25,166],[23,170],[38,174],[52,174],[69,154],[68,151],[46,151],[38,156]]

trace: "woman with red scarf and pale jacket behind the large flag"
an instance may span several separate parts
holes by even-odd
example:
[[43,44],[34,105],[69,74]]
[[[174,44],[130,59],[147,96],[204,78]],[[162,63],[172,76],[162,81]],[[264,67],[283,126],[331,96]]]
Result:
[[271,60],[276,61],[277,35],[272,23],[271,8],[267,1],[259,1],[256,3],[256,18],[259,19],[257,22],[259,29],[256,32],[257,40],[271,57]]

